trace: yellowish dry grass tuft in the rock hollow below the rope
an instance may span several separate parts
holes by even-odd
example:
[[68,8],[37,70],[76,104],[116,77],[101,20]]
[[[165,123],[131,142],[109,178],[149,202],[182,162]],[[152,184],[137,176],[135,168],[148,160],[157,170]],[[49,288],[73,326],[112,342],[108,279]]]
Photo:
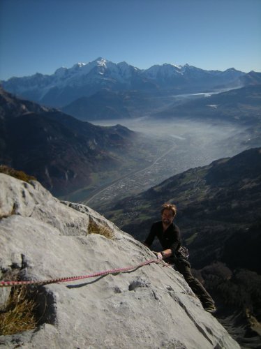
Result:
[[0,311],[0,335],[35,329],[36,302],[30,299],[26,286],[11,290],[6,308]]

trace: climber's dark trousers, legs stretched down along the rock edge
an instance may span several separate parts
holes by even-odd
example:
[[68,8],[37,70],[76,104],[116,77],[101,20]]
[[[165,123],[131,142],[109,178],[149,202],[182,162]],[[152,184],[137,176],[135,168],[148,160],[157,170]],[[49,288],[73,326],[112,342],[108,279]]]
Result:
[[184,276],[184,279],[190,286],[191,290],[193,290],[195,295],[200,299],[200,302],[204,308],[214,304],[214,300],[211,298],[211,295],[209,295],[209,293],[204,289],[200,281],[195,279],[191,274],[191,263],[188,262],[188,260],[177,259],[173,267]]

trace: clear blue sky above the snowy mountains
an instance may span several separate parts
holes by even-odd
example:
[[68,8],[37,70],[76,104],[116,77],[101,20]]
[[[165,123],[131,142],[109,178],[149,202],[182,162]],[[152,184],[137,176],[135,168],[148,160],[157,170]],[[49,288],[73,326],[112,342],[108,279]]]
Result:
[[261,0],[0,0],[0,79],[103,57],[261,71]]

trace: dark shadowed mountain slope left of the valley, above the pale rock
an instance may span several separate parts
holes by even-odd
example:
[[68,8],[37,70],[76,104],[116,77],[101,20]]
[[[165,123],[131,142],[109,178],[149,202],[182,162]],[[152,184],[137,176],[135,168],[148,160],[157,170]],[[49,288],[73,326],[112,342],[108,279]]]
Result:
[[0,161],[35,176],[56,195],[91,183],[93,172],[121,165],[134,133],[94,126],[1,90]]

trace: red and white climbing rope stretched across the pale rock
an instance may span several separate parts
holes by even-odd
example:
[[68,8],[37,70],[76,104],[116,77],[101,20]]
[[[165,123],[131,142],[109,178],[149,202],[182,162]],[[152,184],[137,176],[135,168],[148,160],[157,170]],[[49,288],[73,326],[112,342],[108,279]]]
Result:
[[105,270],[104,272],[97,272],[94,274],[89,274],[89,275],[84,275],[84,276],[68,276],[65,278],[49,279],[49,280],[43,280],[43,281],[0,281],[0,287],[11,287],[11,286],[20,286],[20,285],[47,285],[49,283],[65,283],[65,282],[70,282],[70,281],[75,281],[75,280],[94,278],[96,276],[129,272],[130,270],[138,269],[140,267],[143,267],[144,265],[149,265],[151,263],[159,263],[159,262],[163,262],[163,261],[158,260],[158,259],[152,259],[152,260],[147,260],[145,262],[142,262],[142,263],[135,265],[133,267],[110,269],[110,270]]

